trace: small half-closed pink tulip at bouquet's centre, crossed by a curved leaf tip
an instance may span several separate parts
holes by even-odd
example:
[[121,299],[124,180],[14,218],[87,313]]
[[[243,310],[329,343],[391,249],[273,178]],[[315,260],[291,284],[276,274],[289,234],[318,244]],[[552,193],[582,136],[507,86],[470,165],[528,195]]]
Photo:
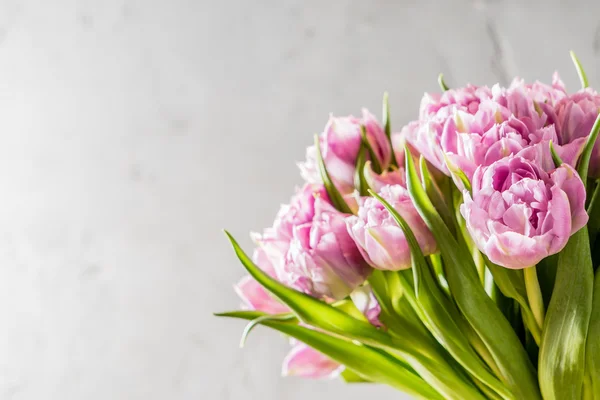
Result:
[[[379,194],[408,222],[423,253],[434,253],[435,240],[413,206],[408,191],[401,185],[388,185]],[[404,232],[377,199],[363,198],[358,215],[348,217],[346,223],[348,232],[373,268],[395,271],[411,266]]]

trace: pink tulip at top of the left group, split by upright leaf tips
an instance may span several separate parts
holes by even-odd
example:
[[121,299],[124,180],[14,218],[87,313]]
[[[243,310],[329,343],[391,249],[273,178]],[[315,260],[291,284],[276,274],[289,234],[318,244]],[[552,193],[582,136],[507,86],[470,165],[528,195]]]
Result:
[[[367,140],[381,166],[387,168],[390,164],[391,147],[382,126],[367,110],[363,109],[362,113],[362,118],[331,116],[319,138],[321,154],[329,176],[336,186],[339,186],[338,189],[342,188],[341,192],[354,186],[354,170],[362,141],[361,125],[365,127]],[[307,182],[322,182],[315,146],[307,149],[306,161],[298,166]]]

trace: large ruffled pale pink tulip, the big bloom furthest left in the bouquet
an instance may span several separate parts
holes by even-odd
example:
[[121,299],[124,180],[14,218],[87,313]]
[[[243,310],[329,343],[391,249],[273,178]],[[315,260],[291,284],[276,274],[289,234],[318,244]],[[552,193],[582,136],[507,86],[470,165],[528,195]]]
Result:
[[315,297],[342,299],[371,272],[345,218],[330,204],[323,185],[306,184],[255,241],[279,281]]

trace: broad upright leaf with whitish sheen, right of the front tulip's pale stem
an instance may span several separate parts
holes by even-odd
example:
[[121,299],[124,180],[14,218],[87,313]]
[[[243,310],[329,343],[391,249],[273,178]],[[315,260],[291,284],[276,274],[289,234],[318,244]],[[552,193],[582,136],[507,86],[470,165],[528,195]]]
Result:
[[[539,378],[544,399],[580,399],[594,274],[587,229],[559,253],[556,283],[544,322]],[[597,338],[595,338],[597,340]]]

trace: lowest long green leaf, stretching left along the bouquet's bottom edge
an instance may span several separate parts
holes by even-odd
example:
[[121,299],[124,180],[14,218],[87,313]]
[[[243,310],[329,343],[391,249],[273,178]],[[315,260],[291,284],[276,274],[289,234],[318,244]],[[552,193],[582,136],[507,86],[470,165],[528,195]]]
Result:
[[[228,313],[223,316],[246,319],[244,314],[239,313]],[[407,371],[393,357],[380,350],[299,325],[282,324],[272,320],[264,320],[262,324],[300,340],[332,360],[345,365],[364,380],[387,384],[421,399],[443,399],[418,375]]]

